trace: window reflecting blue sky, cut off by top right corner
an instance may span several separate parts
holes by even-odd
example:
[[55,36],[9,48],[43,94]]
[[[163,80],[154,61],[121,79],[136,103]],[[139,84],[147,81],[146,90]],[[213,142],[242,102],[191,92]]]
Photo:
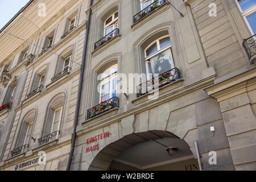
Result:
[[252,34],[256,34],[256,1],[237,0],[238,7]]

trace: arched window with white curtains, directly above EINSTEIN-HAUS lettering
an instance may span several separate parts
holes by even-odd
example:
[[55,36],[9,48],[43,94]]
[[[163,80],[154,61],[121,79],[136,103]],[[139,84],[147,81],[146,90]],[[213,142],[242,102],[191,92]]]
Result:
[[106,69],[101,74],[100,102],[117,97],[117,64]]

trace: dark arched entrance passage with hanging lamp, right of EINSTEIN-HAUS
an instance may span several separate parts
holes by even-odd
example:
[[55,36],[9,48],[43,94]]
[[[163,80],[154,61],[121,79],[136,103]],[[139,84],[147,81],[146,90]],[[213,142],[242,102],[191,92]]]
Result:
[[[167,147],[177,151],[170,155]],[[185,140],[154,130],[126,135],[102,148],[88,170],[197,171],[199,165]]]

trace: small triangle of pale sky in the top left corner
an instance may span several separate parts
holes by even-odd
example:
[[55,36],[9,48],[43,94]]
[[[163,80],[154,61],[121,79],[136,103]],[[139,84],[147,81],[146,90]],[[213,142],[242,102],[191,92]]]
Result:
[[0,28],[5,26],[30,0],[0,0]]

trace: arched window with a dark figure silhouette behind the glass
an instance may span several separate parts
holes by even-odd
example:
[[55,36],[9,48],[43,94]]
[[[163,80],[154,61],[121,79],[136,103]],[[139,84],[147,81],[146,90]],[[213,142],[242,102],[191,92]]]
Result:
[[175,67],[170,36],[162,36],[144,49],[147,79],[162,75]]

